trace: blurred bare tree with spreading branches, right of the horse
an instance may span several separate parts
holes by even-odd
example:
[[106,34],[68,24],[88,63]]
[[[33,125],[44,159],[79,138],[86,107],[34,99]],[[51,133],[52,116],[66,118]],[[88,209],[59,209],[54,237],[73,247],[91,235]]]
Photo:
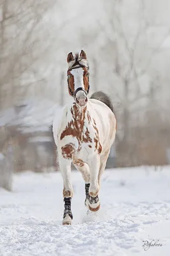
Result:
[[[165,35],[162,35],[157,46],[153,48],[152,42],[149,42],[150,47],[148,47],[147,33],[154,27],[159,29],[159,25],[148,21],[146,11],[145,1],[136,2],[138,19],[134,18],[130,31],[128,22],[132,22],[132,17],[126,13],[125,2],[115,0],[113,4],[110,1],[106,5],[108,26],[106,27],[106,20],[100,22],[101,30],[107,38],[106,51],[112,49],[114,52],[112,59],[108,58],[108,66],[113,67],[113,77],[117,77],[118,81],[115,86],[113,85],[114,90],[117,92],[118,87],[122,88],[118,92],[122,107],[121,115],[118,116],[118,123],[122,124],[120,127],[122,133],[120,152],[123,159],[127,158],[125,159],[126,162],[128,159],[132,159],[134,155],[136,157],[135,149],[132,147],[132,141],[134,141],[132,127],[144,124],[140,109],[145,110],[151,93],[153,95],[158,90],[155,83],[153,86],[150,71],[154,69],[153,59],[169,36],[169,28],[167,27]],[[150,89],[143,90],[143,87],[146,87],[145,83]],[[138,117],[138,120],[134,116]],[[134,141],[135,145],[136,141]]]

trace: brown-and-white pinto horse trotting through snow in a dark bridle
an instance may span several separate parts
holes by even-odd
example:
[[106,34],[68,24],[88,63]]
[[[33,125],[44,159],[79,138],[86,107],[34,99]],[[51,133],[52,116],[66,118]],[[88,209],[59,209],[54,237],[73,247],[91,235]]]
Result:
[[85,51],[67,55],[67,86],[70,103],[53,120],[53,138],[57,146],[60,172],[64,182],[62,225],[71,225],[71,163],[85,180],[85,206],[100,208],[99,189],[110,148],[115,141],[117,121],[110,97],[94,92],[89,98],[89,62]]

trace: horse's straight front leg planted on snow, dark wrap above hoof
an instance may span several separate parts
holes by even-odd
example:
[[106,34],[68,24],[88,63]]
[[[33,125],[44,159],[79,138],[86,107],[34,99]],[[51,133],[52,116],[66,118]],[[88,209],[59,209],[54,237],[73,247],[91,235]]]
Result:
[[71,160],[60,157],[59,166],[64,182],[64,214],[62,225],[71,225],[71,221],[73,220],[73,214],[71,212],[71,198],[73,196],[73,187],[71,184]]

